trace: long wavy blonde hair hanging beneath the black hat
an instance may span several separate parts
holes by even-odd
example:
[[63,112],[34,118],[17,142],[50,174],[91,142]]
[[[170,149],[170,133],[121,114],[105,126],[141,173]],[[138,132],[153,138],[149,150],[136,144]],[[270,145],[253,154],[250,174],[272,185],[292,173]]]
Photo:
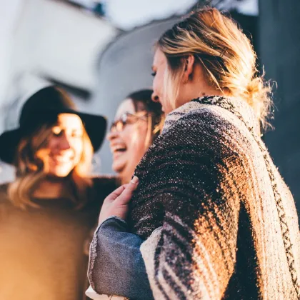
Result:
[[[27,206],[39,207],[32,201],[32,194],[36,186],[46,177],[48,166],[36,155],[43,149],[52,134],[52,126],[44,125],[28,136],[24,136],[17,148],[16,180],[9,184],[9,199],[14,206],[26,209]],[[69,174],[69,188],[71,200],[75,209],[80,209],[86,203],[87,192],[91,186],[91,179],[87,177],[91,169],[93,147],[86,130],[84,129],[83,151],[79,163]]]

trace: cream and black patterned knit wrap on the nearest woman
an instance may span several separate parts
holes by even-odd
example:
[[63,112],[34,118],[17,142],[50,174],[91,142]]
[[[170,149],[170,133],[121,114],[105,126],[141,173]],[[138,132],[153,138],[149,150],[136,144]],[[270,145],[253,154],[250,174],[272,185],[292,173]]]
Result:
[[129,221],[155,299],[300,299],[294,199],[245,101],[171,112],[136,176]]

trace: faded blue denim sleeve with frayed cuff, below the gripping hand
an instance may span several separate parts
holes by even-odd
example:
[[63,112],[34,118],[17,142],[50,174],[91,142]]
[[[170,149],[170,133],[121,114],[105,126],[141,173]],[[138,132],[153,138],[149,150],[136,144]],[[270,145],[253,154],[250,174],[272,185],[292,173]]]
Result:
[[89,281],[98,294],[129,299],[154,299],[139,236],[127,232],[126,221],[115,216],[96,229],[91,243]]

